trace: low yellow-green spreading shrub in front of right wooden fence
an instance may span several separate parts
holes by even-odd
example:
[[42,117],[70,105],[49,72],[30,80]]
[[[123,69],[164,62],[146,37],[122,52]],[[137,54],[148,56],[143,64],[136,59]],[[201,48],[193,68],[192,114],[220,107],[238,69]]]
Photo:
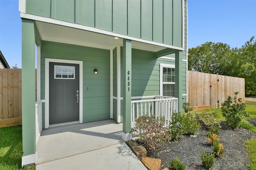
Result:
[[201,111],[189,111],[192,117],[198,119],[200,122],[204,123],[206,127],[219,126],[221,119],[216,117],[216,111],[210,109],[205,109]]

